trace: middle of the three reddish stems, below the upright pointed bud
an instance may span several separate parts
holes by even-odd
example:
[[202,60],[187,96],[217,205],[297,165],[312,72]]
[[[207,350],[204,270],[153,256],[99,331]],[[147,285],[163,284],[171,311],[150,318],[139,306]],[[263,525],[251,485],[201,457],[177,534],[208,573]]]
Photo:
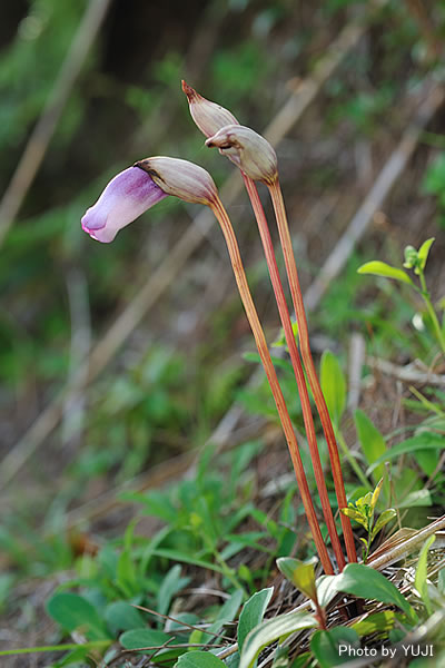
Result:
[[247,193],[250,197],[251,206],[254,208],[255,217],[257,219],[259,235],[261,237],[263,248],[266,255],[266,262],[270,274],[270,281],[273,284],[275,298],[277,301],[279,317],[281,320],[283,328],[285,332],[287,347],[289,348],[289,355],[291,365],[294,369],[295,377],[297,381],[298,393],[301,401],[303,419],[305,422],[307,441],[309,444],[310,459],[313,462],[315,480],[317,483],[318,494],[322,501],[323,514],[329,532],[330,542],[337,559],[338,568],[342,571],[345,567],[345,556],[342,550],[340,540],[338,538],[337,528],[335,525],[333,511],[330,509],[329,498],[326,489],[325,477],[323,473],[322,462],[318,452],[317,436],[315,434],[314,419],[310,409],[310,400],[307,391],[305,373],[303,371],[295,335],[290,322],[289,310],[287,307],[285,293],[283,289],[281,279],[275,257],[274,245],[270,238],[270,232],[267,225],[266,216],[263,209],[261,202],[259,199],[257,187],[251,178],[246,176],[243,171],[243,178],[246,185]]

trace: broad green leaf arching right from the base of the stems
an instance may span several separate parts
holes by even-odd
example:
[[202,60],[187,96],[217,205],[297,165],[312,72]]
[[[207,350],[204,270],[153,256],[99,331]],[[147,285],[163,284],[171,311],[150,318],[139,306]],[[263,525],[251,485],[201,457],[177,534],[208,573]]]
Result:
[[411,620],[416,620],[416,613],[408,601],[389,580],[382,573],[363,563],[348,563],[343,573],[336,577],[337,591],[353,593],[359,598],[394,603],[403,610]]

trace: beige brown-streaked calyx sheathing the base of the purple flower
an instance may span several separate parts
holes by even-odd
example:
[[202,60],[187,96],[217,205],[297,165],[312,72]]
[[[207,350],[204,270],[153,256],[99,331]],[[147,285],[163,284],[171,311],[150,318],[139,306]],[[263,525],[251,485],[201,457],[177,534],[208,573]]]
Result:
[[184,202],[209,206],[218,197],[218,190],[208,171],[179,158],[146,158],[136,163],[167,195]]

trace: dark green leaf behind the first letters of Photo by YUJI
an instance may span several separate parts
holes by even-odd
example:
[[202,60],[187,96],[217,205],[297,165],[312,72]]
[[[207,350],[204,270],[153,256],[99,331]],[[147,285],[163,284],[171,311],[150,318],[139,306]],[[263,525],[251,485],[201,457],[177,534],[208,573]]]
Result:
[[353,661],[355,656],[349,656],[347,649],[359,646],[357,632],[340,626],[330,631],[316,631],[310,639],[310,649],[318,660],[319,668],[333,668]]

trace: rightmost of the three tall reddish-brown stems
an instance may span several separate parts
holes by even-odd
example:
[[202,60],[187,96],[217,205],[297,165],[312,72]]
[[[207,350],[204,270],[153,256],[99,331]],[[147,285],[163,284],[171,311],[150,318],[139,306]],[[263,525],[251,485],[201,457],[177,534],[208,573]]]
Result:
[[[318,414],[322,420],[323,430],[325,432],[327,446],[329,450],[330,465],[333,469],[333,478],[335,484],[335,491],[337,494],[337,501],[339,508],[347,508],[345,485],[343,482],[340,459],[338,455],[337,442],[335,440],[334,428],[330,422],[329,412],[327,410],[326,401],[322,392],[322,386],[318,381],[317,372],[309,345],[309,332],[307,327],[307,320],[305,313],[305,306],[303,303],[301,288],[299,286],[297,267],[295,264],[294,249],[290,239],[289,227],[287,224],[286,209],[283,200],[281,188],[279,186],[278,178],[268,185],[271,202],[274,205],[275,215],[277,218],[277,226],[279,238],[281,242],[283,254],[285,258],[287,277],[290,286],[290,294],[294,302],[295,314],[297,316],[299,342],[301,350],[303,363],[306,369],[307,377],[309,380],[310,389],[314,394],[314,400],[318,410]],[[342,527],[345,537],[346,552],[349,561],[357,561],[357,552],[354,543],[353,530],[350,527],[350,520],[343,513],[340,513]]]

